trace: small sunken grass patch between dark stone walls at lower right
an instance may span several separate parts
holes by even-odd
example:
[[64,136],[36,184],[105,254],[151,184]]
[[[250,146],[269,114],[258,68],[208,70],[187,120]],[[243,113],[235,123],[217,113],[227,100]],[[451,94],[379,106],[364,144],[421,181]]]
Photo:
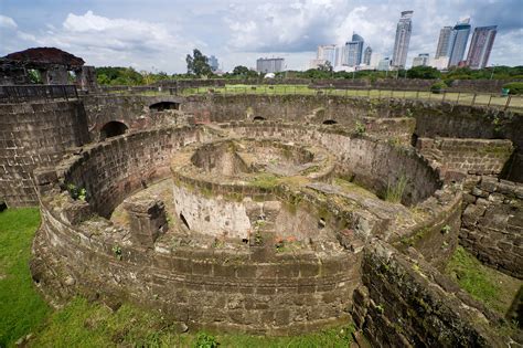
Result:
[[523,285],[523,281],[484,266],[462,246],[456,249],[447,273],[473,298],[502,315],[509,310]]

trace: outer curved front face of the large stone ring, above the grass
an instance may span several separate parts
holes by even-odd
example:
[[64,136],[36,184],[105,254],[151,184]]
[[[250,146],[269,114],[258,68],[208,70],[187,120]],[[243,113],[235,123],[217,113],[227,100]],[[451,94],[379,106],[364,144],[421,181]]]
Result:
[[[346,320],[344,309],[360,282],[356,254],[280,255],[268,263],[253,262],[249,254],[236,251],[179,247],[168,252],[168,245],[158,245],[156,252],[146,253],[122,244],[116,244],[121,254],[115,254],[111,233],[93,233],[88,221],[71,226],[47,205],[42,207],[42,220],[34,251],[40,261],[33,262],[40,286],[47,289],[54,283],[62,296],[71,296],[76,288],[109,303],[132,300],[192,327],[303,333]],[[96,226],[97,231],[113,229],[100,222]],[[39,249],[39,240],[52,243],[52,254]],[[62,264],[62,277],[46,273],[56,272],[52,262]]]

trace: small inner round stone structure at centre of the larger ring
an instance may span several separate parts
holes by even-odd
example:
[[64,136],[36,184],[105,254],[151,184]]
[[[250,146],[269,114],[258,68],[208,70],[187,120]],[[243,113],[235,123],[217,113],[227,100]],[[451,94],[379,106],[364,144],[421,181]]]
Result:
[[189,147],[172,159],[175,213],[188,229],[216,239],[260,240],[259,230],[270,230],[271,239],[317,239],[307,228],[316,223],[289,214],[276,188],[333,170],[324,149],[292,143],[242,138]]

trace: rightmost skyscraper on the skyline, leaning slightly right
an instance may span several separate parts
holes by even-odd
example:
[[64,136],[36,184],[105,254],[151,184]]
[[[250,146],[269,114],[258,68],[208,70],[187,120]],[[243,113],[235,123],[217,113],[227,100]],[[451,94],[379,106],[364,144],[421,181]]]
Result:
[[498,25],[478,27],[470,42],[467,65],[471,68],[483,68],[489,63],[490,52],[494,44]]

